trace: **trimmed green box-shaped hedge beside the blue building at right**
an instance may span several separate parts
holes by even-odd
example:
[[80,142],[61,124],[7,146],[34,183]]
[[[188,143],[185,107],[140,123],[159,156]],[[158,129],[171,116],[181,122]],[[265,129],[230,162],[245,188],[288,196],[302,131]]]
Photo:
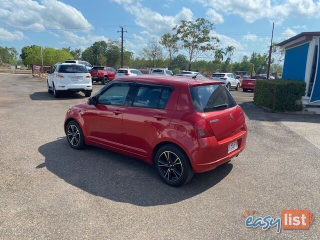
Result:
[[301,97],[304,94],[304,81],[257,79],[253,100],[273,111],[295,111],[302,110]]

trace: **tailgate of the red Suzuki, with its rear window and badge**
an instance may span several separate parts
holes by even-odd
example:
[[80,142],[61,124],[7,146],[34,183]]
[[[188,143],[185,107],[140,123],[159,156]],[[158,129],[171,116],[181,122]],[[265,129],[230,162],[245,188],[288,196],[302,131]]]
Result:
[[210,125],[220,140],[240,130],[244,114],[223,84],[194,86],[190,88],[194,109]]

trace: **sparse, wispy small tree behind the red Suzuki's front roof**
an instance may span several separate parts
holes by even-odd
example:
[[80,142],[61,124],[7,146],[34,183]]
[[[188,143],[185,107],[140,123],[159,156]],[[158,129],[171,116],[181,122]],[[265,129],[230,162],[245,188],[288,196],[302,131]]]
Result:
[[147,66],[158,67],[164,61],[164,54],[161,45],[155,38],[149,41],[146,48],[143,48],[140,55],[148,60]]

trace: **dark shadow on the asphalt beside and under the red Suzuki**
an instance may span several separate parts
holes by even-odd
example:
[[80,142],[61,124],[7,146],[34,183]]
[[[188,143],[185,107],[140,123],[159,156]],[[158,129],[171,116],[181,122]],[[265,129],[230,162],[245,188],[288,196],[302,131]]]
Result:
[[180,187],[166,185],[153,166],[112,151],[87,146],[72,149],[65,137],[41,145],[38,151],[46,167],[67,183],[88,193],[139,206],[172,204],[213,187],[232,169],[227,163],[214,170],[195,174]]

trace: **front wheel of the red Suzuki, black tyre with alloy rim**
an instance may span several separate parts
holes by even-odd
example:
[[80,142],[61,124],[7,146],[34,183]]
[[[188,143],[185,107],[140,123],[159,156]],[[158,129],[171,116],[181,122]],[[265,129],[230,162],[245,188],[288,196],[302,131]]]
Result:
[[65,126],[66,139],[69,145],[74,149],[85,147],[85,141],[82,129],[76,120],[71,120]]

